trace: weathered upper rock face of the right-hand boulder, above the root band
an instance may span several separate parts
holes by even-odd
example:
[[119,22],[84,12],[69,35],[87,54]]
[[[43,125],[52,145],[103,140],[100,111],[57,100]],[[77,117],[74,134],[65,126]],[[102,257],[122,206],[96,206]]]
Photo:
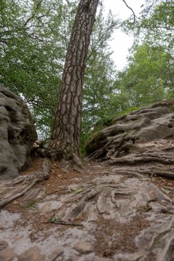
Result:
[[113,119],[111,126],[103,128],[102,131],[99,131],[94,137],[89,139],[86,146],[87,155],[95,154],[94,159],[103,158],[107,156],[107,152],[113,144],[114,148],[118,145],[120,147],[124,141],[131,140],[133,144],[140,144],[140,142],[173,139],[173,104],[174,100],[158,102],[138,111],[133,111],[128,115]]

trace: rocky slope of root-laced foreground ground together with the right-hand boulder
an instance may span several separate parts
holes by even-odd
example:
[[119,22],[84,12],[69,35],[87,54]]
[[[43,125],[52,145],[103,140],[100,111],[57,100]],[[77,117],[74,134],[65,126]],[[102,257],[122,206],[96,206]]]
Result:
[[0,260],[173,260],[173,104],[147,106],[96,133],[83,173],[38,158],[0,181]]

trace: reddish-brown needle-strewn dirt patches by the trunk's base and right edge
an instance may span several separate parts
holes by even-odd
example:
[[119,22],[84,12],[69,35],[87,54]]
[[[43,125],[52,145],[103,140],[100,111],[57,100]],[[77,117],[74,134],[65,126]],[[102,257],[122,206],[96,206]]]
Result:
[[[41,158],[36,158],[36,160],[33,163],[33,166],[21,172],[21,175],[23,174],[30,174],[33,171],[37,170],[38,168],[41,168],[42,163]],[[85,164],[85,170],[83,172],[76,172],[72,170],[72,168],[69,168],[68,172],[63,172],[61,170],[61,163],[58,161],[52,161],[52,169],[50,172],[50,177],[46,181],[43,181],[41,185],[45,186],[46,194],[52,194],[54,192],[58,192],[58,188],[61,185],[70,185],[72,183],[72,180],[74,180],[74,183],[80,183],[82,180],[83,182],[91,181],[94,179],[94,177],[108,174],[110,173],[110,169],[108,166],[102,166],[99,163],[95,162],[89,162],[84,163]],[[98,171],[98,168],[100,168],[100,171]],[[168,196],[173,198],[173,188],[174,188],[174,180],[173,179],[166,179],[162,177],[153,177],[149,176],[149,179],[151,179],[151,182],[157,185],[158,188],[164,190],[166,189]],[[62,192],[60,192],[62,194]]]

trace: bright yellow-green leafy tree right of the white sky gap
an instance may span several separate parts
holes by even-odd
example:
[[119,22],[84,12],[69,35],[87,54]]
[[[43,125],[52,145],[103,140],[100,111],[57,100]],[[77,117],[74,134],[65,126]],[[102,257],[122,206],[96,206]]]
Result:
[[166,87],[167,55],[149,48],[148,45],[134,45],[129,65],[118,73],[116,87],[122,96],[122,109],[146,106],[165,100],[168,96]]

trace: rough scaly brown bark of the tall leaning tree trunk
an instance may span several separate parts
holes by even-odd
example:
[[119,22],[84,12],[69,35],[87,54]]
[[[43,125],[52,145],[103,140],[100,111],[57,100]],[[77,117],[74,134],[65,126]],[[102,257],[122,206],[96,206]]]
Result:
[[81,0],[67,49],[61,92],[49,153],[54,159],[78,159],[83,76],[98,0]]

